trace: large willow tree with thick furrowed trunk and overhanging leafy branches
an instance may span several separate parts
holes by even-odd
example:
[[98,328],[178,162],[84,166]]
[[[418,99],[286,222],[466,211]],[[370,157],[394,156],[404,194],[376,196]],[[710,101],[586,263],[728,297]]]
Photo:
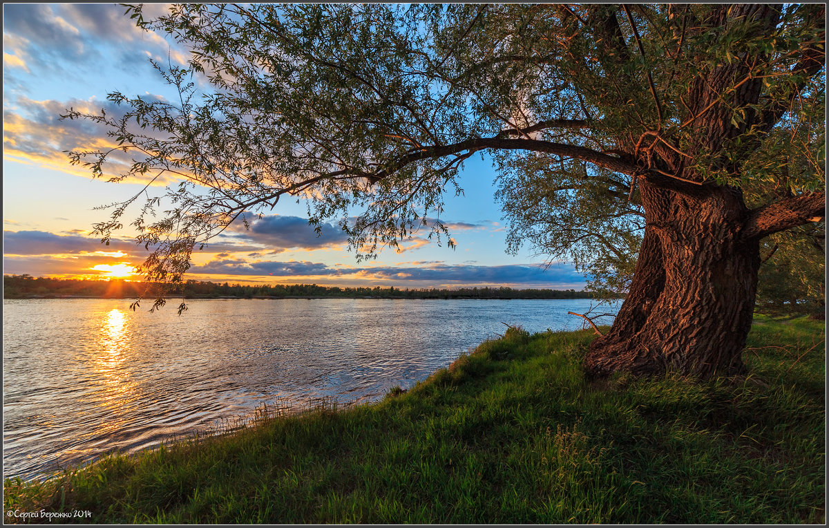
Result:
[[[153,249],[150,279],[180,280],[194,245],[284,197],[305,200],[314,224],[337,219],[361,255],[422,225],[447,235],[441,196],[489,151],[514,243],[530,236],[613,270],[632,265],[613,249],[641,240],[589,374],[732,375],[744,371],[760,240],[824,216],[822,5],[128,13],[189,49],[188,65],[158,65],[180,100],[114,93],[122,114],[66,117],[107,125],[136,153],[116,178],[181,178],[166,215],[148,216],[151,197],[133,222]],[[100,176],[113,152],[70,157]],[[749,207],[744,191],[770,197]],[[138,197],[97,226],[104,239]]]

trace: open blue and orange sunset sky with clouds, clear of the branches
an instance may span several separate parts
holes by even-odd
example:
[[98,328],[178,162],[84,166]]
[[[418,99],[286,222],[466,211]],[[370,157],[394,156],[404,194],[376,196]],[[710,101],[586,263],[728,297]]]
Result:
[[[145,6],[145,16],[161,4]],[[109,245],[91,235],[109,217],[100,206],[124,200],[137,183],[110,183],[71,166],[63,151],[108,143],[103,128],[59,121],[72,107],[98,111],[106,95],[171,97],[149,59],[183,64],[187,51],[135,27],[114,4],[3,5],[3,274],[63,278],[126,277],[146,256],[128,230]],[[488,158],[471,157],[448,193],[444,215],[457,247],[415,233],[399,251],[383,249],[357,262],[341,230],[317,236],[305,206],[280,201],[250,230],[231,225],[221,239],[196,251],[186,279],[230,283],[316,283],[395,288],[501,287],[581,289],[569,262],[546,266],[525,245],[507,254],[507,225],[494,200],[496,172]],[[124,222],[128,224],[127,222]]]

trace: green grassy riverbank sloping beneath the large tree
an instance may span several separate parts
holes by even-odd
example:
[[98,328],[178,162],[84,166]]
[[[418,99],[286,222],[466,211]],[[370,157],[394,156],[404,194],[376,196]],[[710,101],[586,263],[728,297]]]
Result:
[[823,322],[757,317],[746,380],[584,381],[511,329],[411,390],[109,457],[8,511],[106,523],[822,523]]

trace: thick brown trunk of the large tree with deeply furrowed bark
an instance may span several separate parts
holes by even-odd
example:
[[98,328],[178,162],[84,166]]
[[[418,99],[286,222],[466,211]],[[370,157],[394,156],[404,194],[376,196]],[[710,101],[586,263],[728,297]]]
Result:
[[739,191],[690,198],[642,183],[647,228],[628,298],[584,358],[591,376],[744,372],[759,241],[741,234]]

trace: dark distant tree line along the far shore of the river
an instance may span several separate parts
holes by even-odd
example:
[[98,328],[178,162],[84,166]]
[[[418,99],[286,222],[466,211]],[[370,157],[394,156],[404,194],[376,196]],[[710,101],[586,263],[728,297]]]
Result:
[[[100,297],[135,298],[153,293],[153,283],[121,280],[51,279],[31,275],[4,275],[4,298],[32,297]],[[317,284],[248,285],[212,283],[187,280],[178,289],[184,298],[290,298],[290,297],[345,297],[345,298],[594,298],[594,294],[574,289],[513,289],[513,288],[340,288]]]

